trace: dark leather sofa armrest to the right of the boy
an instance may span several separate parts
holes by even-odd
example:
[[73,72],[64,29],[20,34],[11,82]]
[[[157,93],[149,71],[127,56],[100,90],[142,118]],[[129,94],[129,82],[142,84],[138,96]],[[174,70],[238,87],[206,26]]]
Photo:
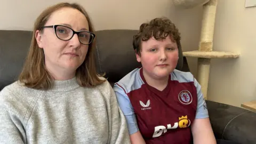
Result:
[[256,113],[243,108],[206,100],[213,132],[217,139],[256,143]]

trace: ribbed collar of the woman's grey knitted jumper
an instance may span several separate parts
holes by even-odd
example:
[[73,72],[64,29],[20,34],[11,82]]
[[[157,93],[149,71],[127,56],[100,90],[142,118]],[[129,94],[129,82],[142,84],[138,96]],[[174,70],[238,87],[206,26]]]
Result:
[[53,82],[52,91],[65,92],[75,90],[80,87],[76,77],[67,80],[55,80]]

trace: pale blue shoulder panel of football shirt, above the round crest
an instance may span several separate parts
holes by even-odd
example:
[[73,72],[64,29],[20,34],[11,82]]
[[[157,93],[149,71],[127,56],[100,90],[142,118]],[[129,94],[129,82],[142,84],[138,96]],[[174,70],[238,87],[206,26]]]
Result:
[[190,72],[174,69],[173,72],[171,73],[171,80],[178,81],[179,83],[189,83],[194,82],[195,77]]

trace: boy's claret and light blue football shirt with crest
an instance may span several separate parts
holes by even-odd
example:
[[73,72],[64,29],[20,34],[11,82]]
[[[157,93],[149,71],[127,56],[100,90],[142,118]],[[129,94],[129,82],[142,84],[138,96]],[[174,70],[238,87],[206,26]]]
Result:
[[114,84],[129,133],[146,143],[190,143],[195,118],[209,117],[201,86],[189,72],[174,69],[163,91],[147,84],[136,68]]

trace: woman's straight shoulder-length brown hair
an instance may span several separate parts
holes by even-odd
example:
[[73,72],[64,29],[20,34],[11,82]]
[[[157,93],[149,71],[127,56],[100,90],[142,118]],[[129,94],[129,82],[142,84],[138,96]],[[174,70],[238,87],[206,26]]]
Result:
[[[84,8],[76,3],[59,3],[53,6],[48,7],[44,10],[39,17],[36,19],[33,38],[31,39],[30,48],[28,55],[25,61],[25,65],[19,76],[19,81],[25,86],[33,89],[50,89],[54,78],[50,75],[45,67],[44,52],[43,49],[39,49],[36,42],[35,34],[36,30],[41,30],[47,20],[49,20],[51,14],[54,11],[57,11],[63,7],[71,7],[82,12],[88,23],[89,30],[93,33],[94,28],[92,26],[91,19]],[[92,87],[98,84],[101,84],[106,81],[106,79],[100,78],[99,74],[96,73],[95,61],[94,61],[94,50],[95,50],[95,41],[89,44],[89,49],[86,55],[86,58],[81,66],[76,70],[76,77],[79,85],[83,87]]]

